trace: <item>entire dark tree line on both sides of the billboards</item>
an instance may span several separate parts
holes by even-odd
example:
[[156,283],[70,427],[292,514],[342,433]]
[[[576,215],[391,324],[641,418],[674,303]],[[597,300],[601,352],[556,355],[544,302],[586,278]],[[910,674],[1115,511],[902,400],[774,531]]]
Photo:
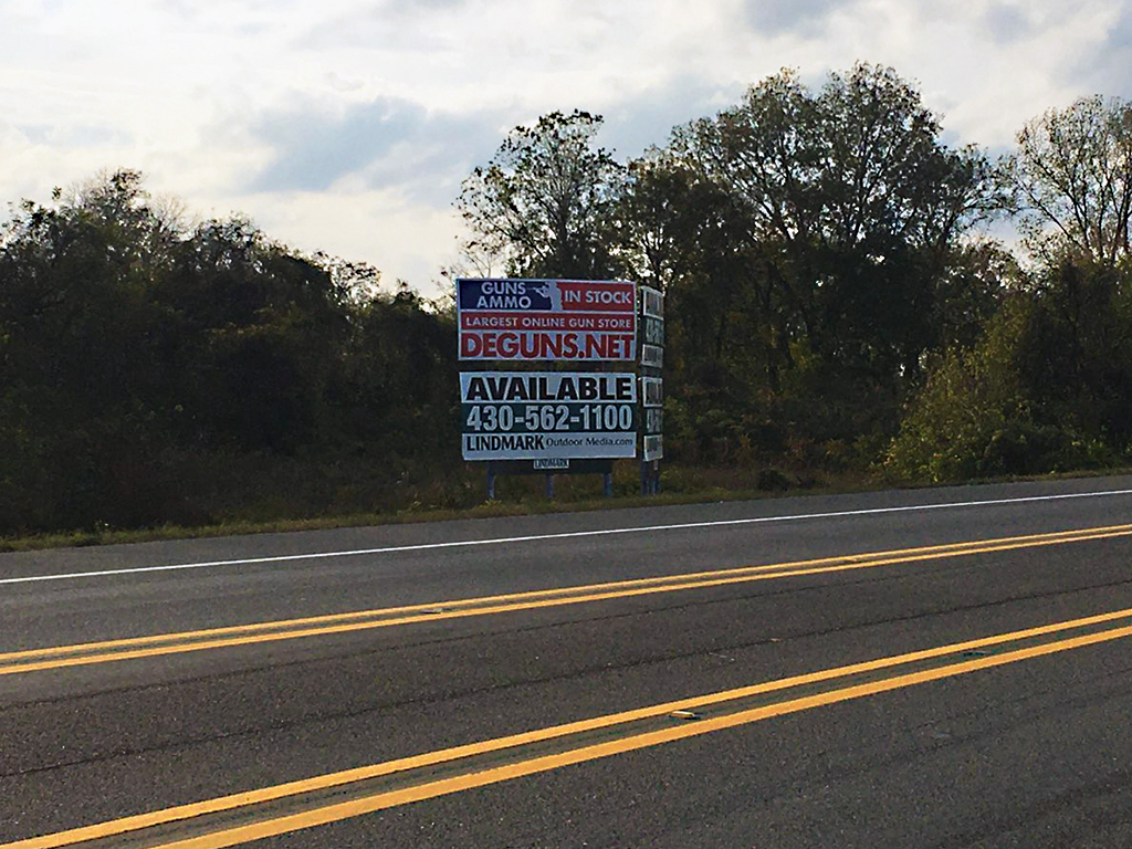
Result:
[[[871,65],[816,91],[784,70],[635,160],[601,125],[508,134],[456,199],[449,272],[662,289],[671,461],[942,481],[1127,460],[1130,104],[1049,110],[996,161]],[[132,171],[12,206],[0,533],[207,522],[201,469],[363,466],[388,505],[458,478],[452,301],[378,281],[239,216],[186,223]]]

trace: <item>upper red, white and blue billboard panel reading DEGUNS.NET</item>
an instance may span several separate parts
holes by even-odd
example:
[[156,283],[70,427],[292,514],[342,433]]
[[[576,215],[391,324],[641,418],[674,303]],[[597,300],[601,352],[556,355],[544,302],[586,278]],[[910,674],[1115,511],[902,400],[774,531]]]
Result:
[[633,361],[636,285],[628,281],[456,281],[461,360]]

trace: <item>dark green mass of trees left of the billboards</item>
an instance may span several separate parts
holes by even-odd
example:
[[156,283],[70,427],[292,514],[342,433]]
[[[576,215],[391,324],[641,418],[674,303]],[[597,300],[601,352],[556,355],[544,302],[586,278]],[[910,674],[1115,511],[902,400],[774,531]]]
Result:
[[239,217],[185,229],[136,172],[25,201],[0,240],[0,533],[206,522],[192,457],[451,463],[451,316],[375,283]]

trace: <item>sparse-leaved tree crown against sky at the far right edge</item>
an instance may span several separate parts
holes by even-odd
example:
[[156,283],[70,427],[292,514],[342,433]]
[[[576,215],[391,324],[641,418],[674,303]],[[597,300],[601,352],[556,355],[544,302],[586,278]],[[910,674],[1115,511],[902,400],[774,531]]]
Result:
[[1018,134],[1003,173],[1030,249],[1052,264],[1065,254],[1113,266],[1129,256],[1132,103],[1082,97]]

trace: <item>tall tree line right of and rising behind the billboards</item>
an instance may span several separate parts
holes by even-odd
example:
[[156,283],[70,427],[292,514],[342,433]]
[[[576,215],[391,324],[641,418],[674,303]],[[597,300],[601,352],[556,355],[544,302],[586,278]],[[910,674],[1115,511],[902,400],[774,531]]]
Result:
[[466,259],[662,289],[676,458],[934,481],[1126,460],[1132,105],[1049,110],[993,161],[861,63],[817,91],[783,70],[625,163],[600,126],[516,128],[464,183]]

